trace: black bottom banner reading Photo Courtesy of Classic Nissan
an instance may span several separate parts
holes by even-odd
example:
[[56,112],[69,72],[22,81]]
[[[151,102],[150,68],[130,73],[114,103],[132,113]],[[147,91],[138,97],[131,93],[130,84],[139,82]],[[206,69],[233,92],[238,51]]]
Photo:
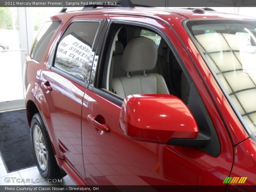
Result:
[[256,186],[248,186],[248,185],[221,185],[221,186],[56,186],[56,185],[20,185],[20,186],[0,186],[1,192],[56,192],[56,191],[69,191],[69,192],[77,192],[77,191],[93,191],[93,192],[162,192],[162,191],[171,191],[171,192],[198,192],[198,191],[218,191],[218,192],[241,192],[241,191],[255,191]]

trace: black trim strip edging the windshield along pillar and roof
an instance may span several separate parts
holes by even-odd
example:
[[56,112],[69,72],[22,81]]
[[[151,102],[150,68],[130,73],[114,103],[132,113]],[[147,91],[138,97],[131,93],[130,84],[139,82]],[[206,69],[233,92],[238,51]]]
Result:
[[[187,23],[188,22],[193,22],[193,21],[201,21],[201,20],[218,20],[220,22],[227,22],[227,21],[236,21],[236,20],[241,20],[241,21],[254,21],[255,20],[242,20],[242,19],[189,19],[189,20],[184,20],[182,22],[182,25],[183,27],[185,28],[186,32],[188,33],[188,36],[191,38],[192,42],[194,43],[194,45],[196,46],[197,48],[197,51],[200,53],[201,57],[203,58],[206,66],[209,68],[209,70],[211,71],[212,73],[212,76],[214,77],[215,81],[217,82],[217,84],[219,85],[220,89],[222,90],[224,96],[226,97],[226,99],[228,100],[228,103],[229,105],[231,106],[231,108],[233,109],[233,111],[235,112],[237,118],[239,119],[240,123],[244,126],[244,129],[245,131],[247,132],[247,134],[249,135],[249,137],[256,143],[256,136],[252,133],[251,129],[248,127],[248,125],[245,123],[242,115],[240,114],[240,112],[238,111],[238,109],[236,108],[234,102],[232,101],[231,97],[229,96],[227,90],[225,89],[224,85],[221,83],[219,77],[217,76],[217,74],[215,73],[214,69],[212,68],[211,65],[208,65],[208,62],[207,62],[207,58],[206,56],[204,55],[204,53],[202,52],[202,50],[200,49],[197,41],[196,41],[196,38],[193,36],[193,34],[191,33],[190,29],[188,28],[187,26]],[[224,122],[224,121],[223,121]]]

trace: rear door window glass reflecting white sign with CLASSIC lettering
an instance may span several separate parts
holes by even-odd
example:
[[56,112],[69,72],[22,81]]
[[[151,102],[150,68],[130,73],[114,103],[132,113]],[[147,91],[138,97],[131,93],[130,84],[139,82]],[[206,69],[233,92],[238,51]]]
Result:
[[62,36],[56,51],[54,67],[85,80],[92,45],[99,22],[74,22]]

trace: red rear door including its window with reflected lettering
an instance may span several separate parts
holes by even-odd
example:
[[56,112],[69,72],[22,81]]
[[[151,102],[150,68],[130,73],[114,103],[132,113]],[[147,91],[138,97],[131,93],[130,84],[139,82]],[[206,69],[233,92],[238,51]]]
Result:
[[81,141],[81,110],[90,76],[93,44],[106,16],[76,16],[64,27],[48,64],[40,74],[37,98],[43,106],[55,154],[85,179]]

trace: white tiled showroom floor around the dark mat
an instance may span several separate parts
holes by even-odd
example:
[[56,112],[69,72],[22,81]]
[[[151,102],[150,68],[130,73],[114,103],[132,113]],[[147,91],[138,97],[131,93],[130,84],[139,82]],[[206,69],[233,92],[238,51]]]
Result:
[[[12,110],[19,110],[19,109],[23,109],[23,108],[17,108],[17,109],[12,109]],[[1,112],[5,112],[5,111],[9,111],[9,110],[4,110],[4,111],[0,111]],[[16,179],[33,179],[33,181],[35,182],[36,179],[43,179],[43,177],[40,175],[40,173],[37,170],[37,167],[30,167],[27,169],[22,169],[20,171],[15,171],[15,172],[10,172],[7,173],[4,163],[2,161],[2,158],[0,156],[0,185],[52,185],[53,183],[6,183],[4,181],[4,178],[6,177],[16,177]],[[75,183],[71,180],[71,178],[67,175],[65,177],[62,178],[62,182],[61,183],[55,183],[54,185],[57,186],[63,186],[63,185],[75,185]]]

